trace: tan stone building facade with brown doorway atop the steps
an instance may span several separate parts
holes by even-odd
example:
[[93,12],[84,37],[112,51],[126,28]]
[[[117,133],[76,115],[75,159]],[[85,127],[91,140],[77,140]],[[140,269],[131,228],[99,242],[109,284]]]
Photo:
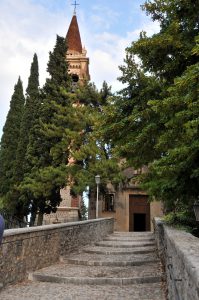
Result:
[[[136,183],[140,172],[145,172],[145,168],[124,170],[125,183],[119,184],[117,189],[110,183],[107,194],[99,196],[99,218],[113,217],[116,231],[150,231],[153,230],[154,217],[163,216],[162,203],[149,202],[147,193]],[[90,218],[95,218],[95,214],[96,200],[93,199],[89,204]]]

